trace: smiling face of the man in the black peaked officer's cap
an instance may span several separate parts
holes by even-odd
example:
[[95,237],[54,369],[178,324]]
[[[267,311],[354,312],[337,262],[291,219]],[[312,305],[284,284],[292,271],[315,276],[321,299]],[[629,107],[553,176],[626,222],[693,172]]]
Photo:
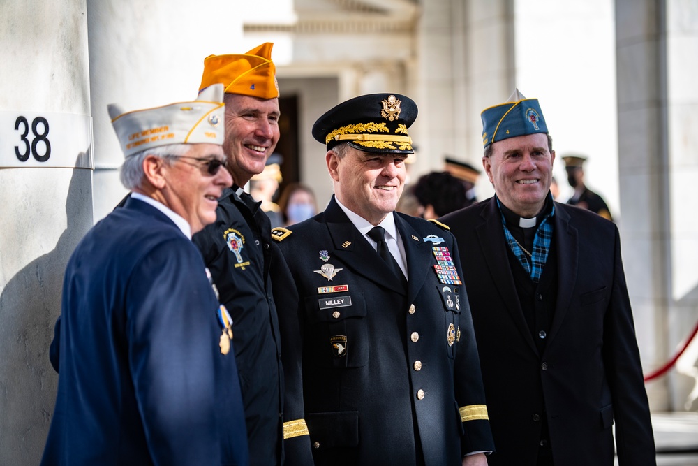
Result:
[[347,147],[345,155],[327,152],[334,194],[355,214],[378,225],[395,210],[405,185],[406,154],[362,152]]

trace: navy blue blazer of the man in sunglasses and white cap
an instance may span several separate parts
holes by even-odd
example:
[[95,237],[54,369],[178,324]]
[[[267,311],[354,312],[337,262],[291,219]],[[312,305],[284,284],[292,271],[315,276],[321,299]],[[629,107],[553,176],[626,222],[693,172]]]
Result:
[[235,355],[196,247],[128,199],[68,261],[42,465],[246,465]]

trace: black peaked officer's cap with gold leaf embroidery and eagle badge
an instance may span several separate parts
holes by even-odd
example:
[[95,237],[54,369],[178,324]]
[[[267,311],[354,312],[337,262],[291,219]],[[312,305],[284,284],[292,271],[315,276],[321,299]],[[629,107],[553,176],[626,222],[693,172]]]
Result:
[[313,138],[327,150],[348,143],[364,152],[413,154],[407,129],[417,104],[400,94],[366,94],[336,105],[313,124]]

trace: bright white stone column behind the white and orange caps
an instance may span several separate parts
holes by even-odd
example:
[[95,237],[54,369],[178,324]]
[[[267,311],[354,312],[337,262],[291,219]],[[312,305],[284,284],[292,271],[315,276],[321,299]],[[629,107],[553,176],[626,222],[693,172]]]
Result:
[[194,99],[207,56],[244,53],[265,42],[243,41],[242,16],[236,8],[235,2],[219,0],[89,2],[96,220],[126,194],[118,171],[124,156],[107,104],[134,110]]

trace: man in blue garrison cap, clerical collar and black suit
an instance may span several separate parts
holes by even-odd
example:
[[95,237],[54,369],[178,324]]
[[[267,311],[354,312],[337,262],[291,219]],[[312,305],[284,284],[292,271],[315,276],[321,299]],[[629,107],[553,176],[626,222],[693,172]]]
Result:
[[495,196],[441,220],[456,236],[497,446],[490,465],[654,465],[618,228],[550,194],[537,99],[482,111]]

